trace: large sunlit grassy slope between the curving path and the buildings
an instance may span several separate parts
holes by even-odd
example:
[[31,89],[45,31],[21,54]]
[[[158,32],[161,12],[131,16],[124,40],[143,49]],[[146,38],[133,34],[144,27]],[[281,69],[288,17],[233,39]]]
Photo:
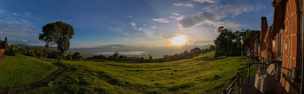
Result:
[[63,61],[68,69],[51,87],[22,94],[220,94],[247,60],[213,55],[214,52],[208,52],[199,58],[169,63]]

